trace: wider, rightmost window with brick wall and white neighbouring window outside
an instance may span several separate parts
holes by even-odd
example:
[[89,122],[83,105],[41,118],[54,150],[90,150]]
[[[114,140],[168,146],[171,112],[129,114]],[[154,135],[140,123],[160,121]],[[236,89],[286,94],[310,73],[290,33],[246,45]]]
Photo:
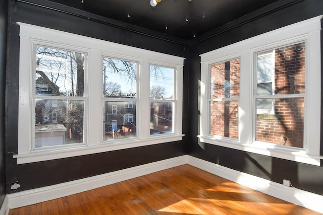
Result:
[[305,50],[300,42],[256,53],[255,140],[304,148]]

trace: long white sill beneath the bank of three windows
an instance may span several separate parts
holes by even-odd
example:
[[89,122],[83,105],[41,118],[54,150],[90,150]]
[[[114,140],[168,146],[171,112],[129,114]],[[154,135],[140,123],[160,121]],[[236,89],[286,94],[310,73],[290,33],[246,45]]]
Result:
[[17,158],[17,164],[26,164],[39,161],[47,161],[61,158],[70,158],[75,156],[89,155],[102,152],[110,152],[122,149],[129,149],[135,147],[149,146],[154,144],[161,144],[164,142],[173,142],[182,140],[184,134],[172,134],[165,136],[149,137],[146,139],[131,139],[129,141],[114,141],[104,142],[96,146],[78,146],[74,148],[53,149],[34,151],[28,154],[14,155]]

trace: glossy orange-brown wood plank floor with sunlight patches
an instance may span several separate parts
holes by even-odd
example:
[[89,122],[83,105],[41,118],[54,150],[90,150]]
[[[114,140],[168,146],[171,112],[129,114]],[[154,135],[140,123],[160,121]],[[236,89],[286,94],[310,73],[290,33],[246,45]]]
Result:
[[319,214],[190,165],[11,209],[14,214]]

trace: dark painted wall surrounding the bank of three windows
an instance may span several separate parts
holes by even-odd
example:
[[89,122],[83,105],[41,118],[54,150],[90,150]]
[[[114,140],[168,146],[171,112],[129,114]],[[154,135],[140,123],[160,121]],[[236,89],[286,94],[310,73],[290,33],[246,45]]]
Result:
[[[104,23],[109,22],[109,20],[48,3],[47,1],[34,2],[41,2],[41,4],[48,7],[57,7],[58,10],[51,10],[23,2],[9,2],[7,97],[10,99],[6,103],[8,107],[6,112],[8,130],[6,141],[7,193],[15,192],[10,189],[10,185],[14,181],[19,181],[21,185],[19,190],[16,191],[22,191],[185,155],[186,137],[182,141],[165,144],[17,165],[17,160],[12,158],[18,152],[19,26],[16,22],[39,25],[134,47],[188,57],[188,48],[182,41],[175,40],[172,42],[169,41],[169,38],[160,39],[155,36],[147,36],[145,33],[137,33],[136,29],[125,30],[124,26],[118,27],[115,25],[116,23]],[[66,10],[69,13],[63,13],[60,10]],[[83,18],[83,15],[89,17],[89,19]],[[187,73],[188,68],[184,66],[184,89],[187,89],[188,85]],[[188,91],[184,90],[183,133],[187,133],[187,97]]]

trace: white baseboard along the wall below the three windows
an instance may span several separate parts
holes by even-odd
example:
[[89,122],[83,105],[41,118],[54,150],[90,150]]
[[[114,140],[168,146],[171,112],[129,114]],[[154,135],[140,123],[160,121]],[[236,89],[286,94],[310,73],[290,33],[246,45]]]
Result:
[[187,164],[186,155],[75,181],[8,194],[9,208],[22,207],[84,192],[184,164]]

